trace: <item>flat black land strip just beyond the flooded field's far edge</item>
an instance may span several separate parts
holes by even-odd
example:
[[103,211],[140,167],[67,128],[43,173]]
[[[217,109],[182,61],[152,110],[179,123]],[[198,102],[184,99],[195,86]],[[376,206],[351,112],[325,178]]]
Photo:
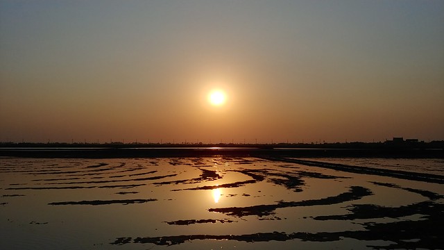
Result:
[[23,158],[165,158],[165,157],[290,157],[290,158],[444,158],[444,149],[323,149],[253,147],[0,147],[0,157]]

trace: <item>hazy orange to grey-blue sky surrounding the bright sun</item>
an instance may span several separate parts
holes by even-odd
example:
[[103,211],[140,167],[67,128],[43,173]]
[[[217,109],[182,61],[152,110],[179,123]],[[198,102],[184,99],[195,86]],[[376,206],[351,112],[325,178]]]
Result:
[[444,140],[443,24],[438,0],[1,0],[0,142]]

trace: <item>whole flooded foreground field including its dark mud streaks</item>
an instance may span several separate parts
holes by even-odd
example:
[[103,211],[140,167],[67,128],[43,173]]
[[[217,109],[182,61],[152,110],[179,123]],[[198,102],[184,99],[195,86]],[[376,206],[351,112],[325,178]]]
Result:
[[259,158],[0,158],[0,249],[433,249],[443,195]]

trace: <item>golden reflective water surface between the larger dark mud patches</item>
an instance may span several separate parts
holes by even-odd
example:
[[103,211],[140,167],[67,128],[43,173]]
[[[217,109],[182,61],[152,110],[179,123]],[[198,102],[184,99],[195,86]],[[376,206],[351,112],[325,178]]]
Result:
[[[255,158],[3,158],[0,166],[3,166],[0,168],[0,203],[3,203],[0,205],[0,231],[4,232],[0,236],[0,249],[94,249],[94,246],[99,249],[146,249],[144,244],[117,247],[110,242],[120,237],[363,230],[363,226],[354,221],[314,218],[350,213],[347,208],[352,204],[396,207],[427,200],[418,193],[372,182],[444,193],[442,185],[434,183]],[[294,181],[291,176],[298,176],[296,180],[301,182]],[[282,201],[325,199],[348,192],[351,186],[368,188],[373,195],[330,205],[276,208],[271,215],[264,216],[237,217],[208,211],[210,208],[245,208],[275,205]],[[122,204],[141,199],[157,200]],[[60,201],[98,200],[120,203],[48,205]],[[208,219],[212,221],[205,221]],[[184,221],[189,224],[180,225]],[[367,221],[382,222],[384,219]],[[255,242],[254,248],[292,249],[295,244],[305,249],[344,246],[365,249],[368,242],[350,238],[328,244],[288,240]],[[172,248],[226,249],[234,246],[253,247],[251,243],[232,240],[195,240]]]

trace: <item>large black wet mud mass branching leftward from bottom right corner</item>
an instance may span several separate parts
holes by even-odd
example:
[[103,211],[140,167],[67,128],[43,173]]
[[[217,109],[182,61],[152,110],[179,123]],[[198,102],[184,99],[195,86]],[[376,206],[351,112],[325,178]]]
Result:
[[235,240],[239,242],[268,242],[302,240],[307,242],[335,242],[343,238],[355,240],[384,240],[390,242],[386,246],[367,245],[372,249],[443,249],[444,238],[441,226],[444,223],[444,204],[425,201],[399,208],[382,208],[374,205],[355,205],[349,209],[348,215],[331,215],[314,219],[374,219],[382,217],[399,218],[420,214],[422,219],[401,220],[398,222],[375,223],[364,222],[363,231],[338,232],[298,232],[298,233],[253,233],[244,235],[176,235],[162,237],[117,238],[110,244],[151,243],[160,246],[182,244],[194,240]]

